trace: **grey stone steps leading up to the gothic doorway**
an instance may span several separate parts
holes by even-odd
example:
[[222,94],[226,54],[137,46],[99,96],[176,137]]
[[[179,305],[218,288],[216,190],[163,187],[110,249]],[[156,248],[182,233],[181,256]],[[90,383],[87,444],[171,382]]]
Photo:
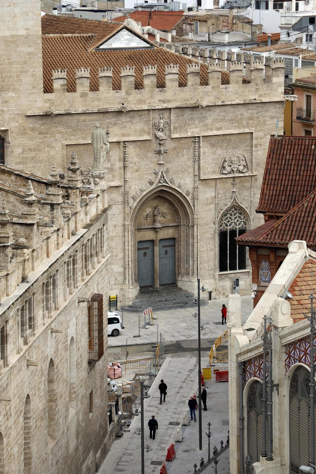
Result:
[[138,295],[125,310],[143,312],[151,306],[152,310],[176,310],[181,308],[194,308],[194,295],[177,287],[177,285],[164,285],[157,288],[140,288]]

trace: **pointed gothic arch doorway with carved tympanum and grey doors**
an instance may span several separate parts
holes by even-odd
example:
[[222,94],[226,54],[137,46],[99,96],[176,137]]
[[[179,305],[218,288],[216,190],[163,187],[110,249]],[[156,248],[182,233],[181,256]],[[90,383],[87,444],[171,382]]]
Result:
[[139,200],[130,223],[131,282],[157,288],[177,283],[193,291],[196,224],[183,193],[167,185],[154,188]]

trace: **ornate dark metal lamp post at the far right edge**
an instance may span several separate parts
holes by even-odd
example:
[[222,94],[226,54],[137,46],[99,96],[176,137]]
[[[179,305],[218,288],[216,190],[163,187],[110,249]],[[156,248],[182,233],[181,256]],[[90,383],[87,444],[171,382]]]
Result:
[[313,301],[315,296],[313,293],[310,295],[310,316],[307,317],[310,322],[310,447],[311,447],[311,460],[310,464],[315,465],[315,366],[314,366],[314,337],[315,337],[315,323],[316,323],[316,310],[313,308]]

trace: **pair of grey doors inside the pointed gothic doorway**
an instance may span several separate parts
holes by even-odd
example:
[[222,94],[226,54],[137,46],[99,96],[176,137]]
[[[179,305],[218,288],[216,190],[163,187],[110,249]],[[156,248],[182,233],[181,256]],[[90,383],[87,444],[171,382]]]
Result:
[[139,286],[153,286],[155,284],[155,264],[158,265],[159,285],[175,283],[176,253],[174,238],[159,240],[157,257],[155,258],[153,240],[141,240],[138,242],[137,273]]

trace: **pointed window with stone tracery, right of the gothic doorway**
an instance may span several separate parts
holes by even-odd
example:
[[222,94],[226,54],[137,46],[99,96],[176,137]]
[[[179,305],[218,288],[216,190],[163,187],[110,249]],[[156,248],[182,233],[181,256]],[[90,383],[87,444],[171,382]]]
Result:
[[247,217],[237,206],[223,212],[219,222],[219,271],[246,268],[246,246],[237,245],[236,237],[247,231]]

